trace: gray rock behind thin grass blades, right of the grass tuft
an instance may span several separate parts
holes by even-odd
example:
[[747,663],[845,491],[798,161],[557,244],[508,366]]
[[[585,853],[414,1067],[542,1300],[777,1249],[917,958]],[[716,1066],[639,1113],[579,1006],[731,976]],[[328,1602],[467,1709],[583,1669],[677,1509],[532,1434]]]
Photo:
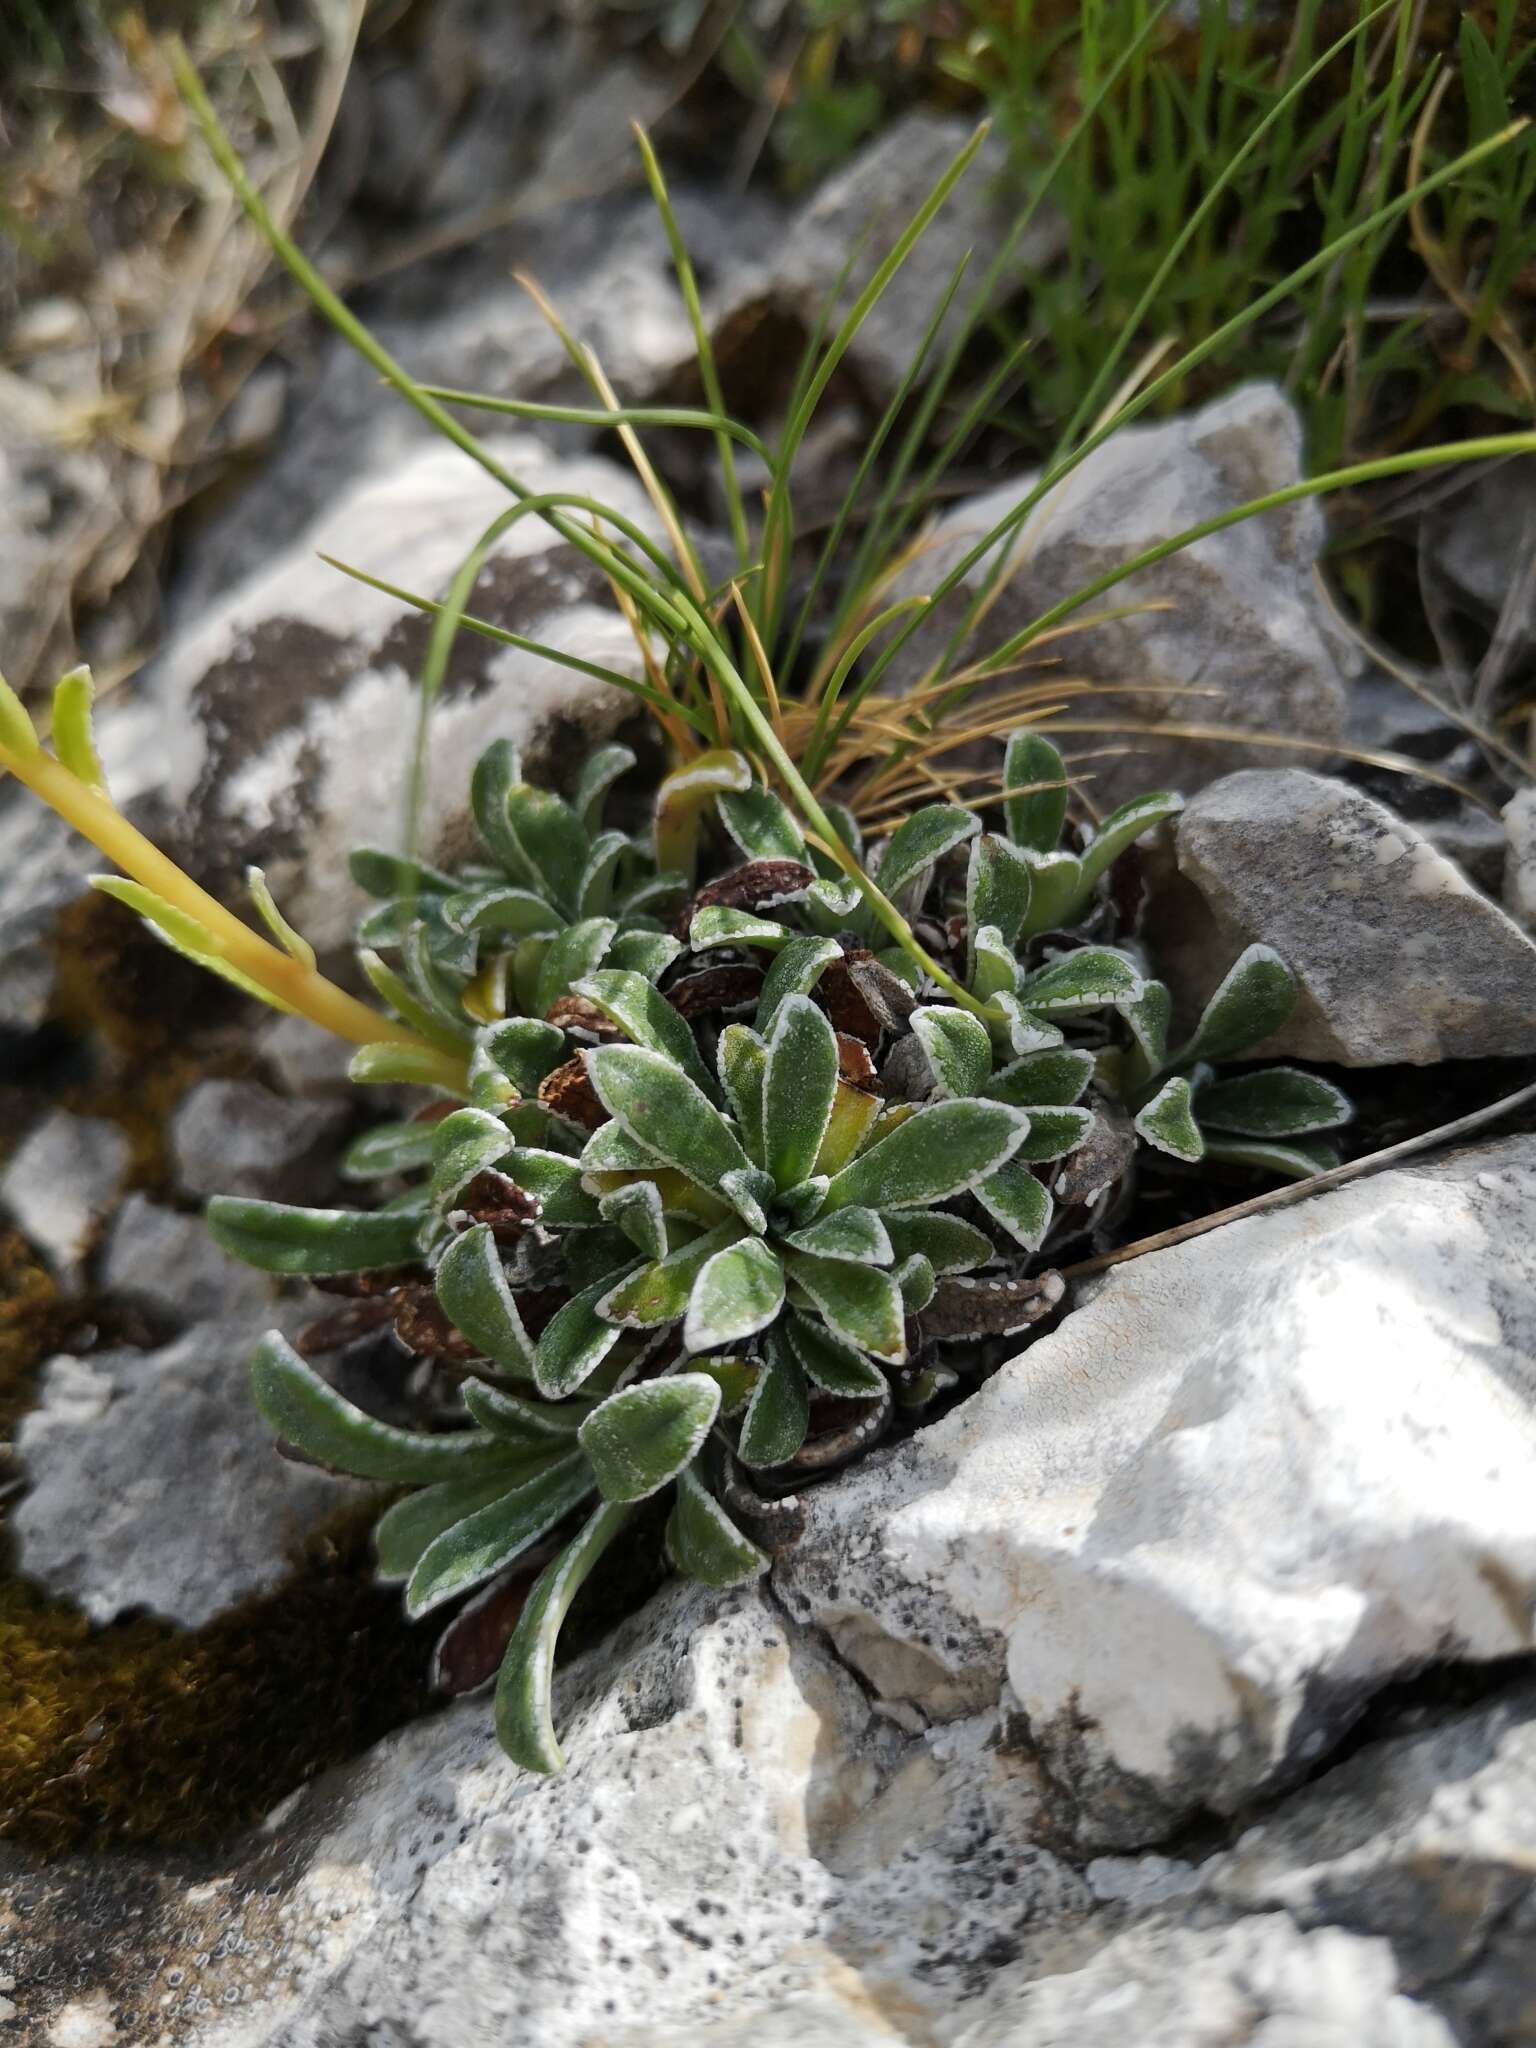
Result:
[[[989,653],[1143,549],[1298,477],[1300,424],[1274,385],[1241,385],[1178,420],[1122,428],[1026,520],[1001,592],[961,659]],[[1022,475],[956,506],[901,594],[934,590],[1032,483],[1034,475]],[[1040,649],[1063,678],[1098,684],[1067,705],[1069,719],[1108,719],[1116,731],[1176,721],[1298,735],[1313,743],[1305,760],[1327,754],[1346,731],[1343,676],[1358,666],[1358,653],[1313,592],[1323,539],[1323,512],[1315,500],[1300,500],[1196,541],[1118,584],[1083,616],[1112,606],[1163,608],[1073,631]],[[956,596],[973,592],[993,559]],[[956,625],[958,606],[950,598],[893,664],[891,686],[911,684],[938,659]],[[1010,678],[1018,680],[1028,676]],[[1069,750],[1104,743],[1102,733],[1073,737],[1069,727],[1063,733]],[[1188,793],[1241,762],[1284,760],[1284,750],[1274,748],[1126,737],[1135,745],[1128,760],[1092,762],[1100,805],[1155,786]]]

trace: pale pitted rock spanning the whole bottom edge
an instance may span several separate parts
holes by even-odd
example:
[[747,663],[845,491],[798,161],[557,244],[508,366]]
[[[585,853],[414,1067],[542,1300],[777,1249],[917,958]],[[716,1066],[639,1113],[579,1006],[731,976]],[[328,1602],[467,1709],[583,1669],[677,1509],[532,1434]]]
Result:
[[1366,1745],[1200,1862],[1087,1882],[1042,1845],[1010,1722],[899,1735],[760,1593],[670,1587],[557,1692],[557,1780],[467,1700],[223,1860],[0,1862],[0,1985],[41,2040],[109,2011],[117,2048],[1532,2036],[1530,1683]]

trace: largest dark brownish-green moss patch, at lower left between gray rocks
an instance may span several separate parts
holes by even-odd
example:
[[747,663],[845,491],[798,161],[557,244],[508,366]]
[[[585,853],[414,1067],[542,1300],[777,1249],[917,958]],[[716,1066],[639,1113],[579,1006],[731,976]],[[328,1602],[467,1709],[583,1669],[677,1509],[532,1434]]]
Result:
[[285,1587],[193,1632],[92,1630],[0,1583],[0,1835],[43,1853],[215,1841],[418,1714],[436,1624],[406,1626],[369,1583],[371,1518],[338,1518]]

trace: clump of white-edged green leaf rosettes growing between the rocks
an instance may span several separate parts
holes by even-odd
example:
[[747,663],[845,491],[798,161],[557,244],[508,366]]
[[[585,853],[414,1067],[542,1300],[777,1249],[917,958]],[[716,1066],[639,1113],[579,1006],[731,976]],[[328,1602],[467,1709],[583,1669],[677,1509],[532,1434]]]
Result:
[[[1008,799],[1008,836],[934,805],[877,850],[872,881],[817,872],[803,827],[739,756],[682,793],[664,780],[651,850],[670,844],[692,868],[713,811],[715,844],[748,860],[692,891],[686,944],[635,928],[649,971],[594,956],[567,975],[559,948],[592,922],[578,918],[545,934],[561,973],[541,981],[539,967],[532,983],[487,975],[475,948],[528,934],[477,911],[580,911],[598,856],[578,811],[510,768],[506,750],[485,756],[475,813],[516,881],[410,877],[440,930],[469,940],[434,969],[461,997],[461,1106],[371,1133],[344,1167],[424,1178],[377,1210],[221,1198],[209,1227],[250,1264],[350,1294],[297,1352],[264,1341],[256,1399],[299,1454],[414,1489],[377,1536],[408,1612],[473,1593],[510,1620],[543,1567],[496,1712],[518,1761],[555,1769],[559,1626],[641,1501],[670,1489],[674,1569],[754,1577],[776,1540],[774,1495],[870,1450],[958,1372],[985,1370],[987,1339],[1059,1307],[1049,1257],[1124,1198],[1137,1141],[1184,1165],[1208,1149],[1307,1174],[1319,1161],[1298,1137],[1341,1122],[1348,1102],[1292,1069],[1214,1075],[1294,997],[1264,948],[1169,1051],[1171,1001],[1118,866],[1176,801],[1143,799],[1063,848],[1065,774],[1038,735],[1008,750],[1004,778],[1024,791]],[[618,858],[608,848],[602,864]],[[887,934],[864,891],[926,934],[954,997],[915,940],[866,944]],[[412,901],[389,915],[420,965]],[[543,1016],[473,1020],[465,989],[510,999],[520,979]],[[459,1382],[455,1427],[383,1423],[301,1356],[385,1327],[432,1378]],[[451,1624],[446,1663],[481,1614]]]

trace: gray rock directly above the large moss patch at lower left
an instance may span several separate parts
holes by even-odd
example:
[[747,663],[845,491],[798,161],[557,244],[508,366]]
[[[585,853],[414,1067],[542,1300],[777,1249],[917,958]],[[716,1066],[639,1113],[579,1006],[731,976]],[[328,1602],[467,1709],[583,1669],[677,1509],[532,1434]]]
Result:
[[147,1608],[197,1628],[276,1585],[301,1538],[362,1489],[293,1464],[246,1386],[270,1309],[158,1352],[68,1352],[43,1368],[16,1454],[20,1571],[92,1622]]

